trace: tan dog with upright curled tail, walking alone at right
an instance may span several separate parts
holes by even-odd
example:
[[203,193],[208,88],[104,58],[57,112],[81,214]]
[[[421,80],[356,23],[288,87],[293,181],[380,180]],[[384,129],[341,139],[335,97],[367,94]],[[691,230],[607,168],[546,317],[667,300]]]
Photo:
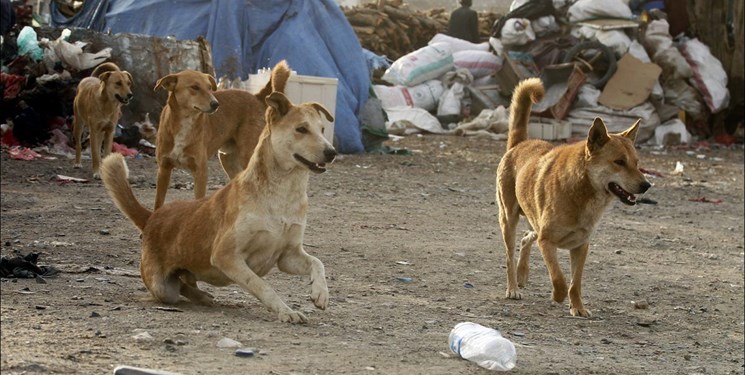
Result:
[[[622,133],[609,134],[603,120],[595,118],[585,142],[554,147],[527,139],[531,102],[538,103],[543,95],[538,78],[524,80],[515,89],[507,152],[497,168],[499,225],[507,261],[506,297],[522,298],[518,288],[528,281],[530,247],[538,241],[553,286],[552,299],[561,303],[567,296],[556,250],[568,249],[570,313],[590,317],[590,310],[582,303],[582,271],[590,236],[614,199],[634,205],[634,194],[651,187],[639,170],[634,149],[640,120]],[[521,241],[516,269],[515,232],[520,215],[528,219],[532,230]]]

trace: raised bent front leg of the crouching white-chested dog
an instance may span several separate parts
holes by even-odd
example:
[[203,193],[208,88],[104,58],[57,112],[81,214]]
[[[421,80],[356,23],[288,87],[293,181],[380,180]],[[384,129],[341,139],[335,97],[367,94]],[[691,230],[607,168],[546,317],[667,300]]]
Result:
[[326,285],[326,271],[318,258],[306,253],[300,246],[279,258],[277,268],[292,275],[310,275],[310,298],[316,307],[326,310],[329,288]]

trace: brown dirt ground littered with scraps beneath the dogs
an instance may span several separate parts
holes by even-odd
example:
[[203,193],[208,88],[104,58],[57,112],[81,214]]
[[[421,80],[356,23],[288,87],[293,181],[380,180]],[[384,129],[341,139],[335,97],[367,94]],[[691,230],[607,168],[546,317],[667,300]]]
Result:
[[[413,155],[345,155],[310,182],[306,249],[326,266],[326,311],[307,280],[266,279],[310,322],[276,321],[238,287],[204,286],[213,307],[153,302],[140,241],[98,181],[66,159],[2,154],[2,255],[39,252],[63,272],[3,279],[3,374],[105,374],[117,365],[181,374],[478,374],[451,355],[455,324],[499,329],[515,374],[743,374],[743,148],[642,148],[656,205],[614,203],[584,276],[591,319],[552,303],[534,249],[523,300],[507,300],[494,173],[504,142],[409,136]],[[673,174],[676,162],[682,174]],[[86,162],[89,165],[89,161]],[[155,194],[155,160],[129,159],[135,193]],[[225,182],[211,164],[212,191]],[[168,200],[189,199],[174,174]],[[719,202],[720,203],[713,203]],[[568,269],[566,252],[560,254]],[[151,339],[142,338],[145,335]],[[138,336],[139,335],[139,336]],[[139,337],[139,338],[135,338]],[[258,350],[221,349],[223,338]]]

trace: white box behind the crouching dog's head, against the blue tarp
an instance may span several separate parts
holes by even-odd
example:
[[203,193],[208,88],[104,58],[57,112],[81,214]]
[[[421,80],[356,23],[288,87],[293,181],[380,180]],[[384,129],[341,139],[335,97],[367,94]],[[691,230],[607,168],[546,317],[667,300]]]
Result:
[[[270,72],[262,72],[259,74],[249,74],[248,86],[246,89],[252,93],[256,93],[261,90],[266,82],[269,80]],[[290,79],[287,80],[287,86],[285,87],[285,94],[287,98],[294,104],[303,102],[318,102],[323,104],[329,113],[336,117],[336,89],[339,84],[339,80],[336,78],[326,77],[315,77],[315,76],[303,76],[298,74],[290,75]],[[326,129],[323,135],[329,142],[334,142],[334,122],[327,121],[324,116],[321,116],[323,121],[326,122]]]

